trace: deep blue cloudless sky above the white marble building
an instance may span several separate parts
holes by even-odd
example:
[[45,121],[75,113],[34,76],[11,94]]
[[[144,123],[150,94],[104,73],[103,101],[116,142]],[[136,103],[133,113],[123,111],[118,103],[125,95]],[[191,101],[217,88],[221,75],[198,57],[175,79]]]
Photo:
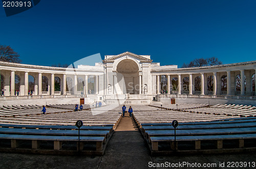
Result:
[[213,56],[247,62],[256,60],[255,9],[255,0],[41,0],[10,17],[0,6],[0,44],[45,66],[125,51],[179,67]]

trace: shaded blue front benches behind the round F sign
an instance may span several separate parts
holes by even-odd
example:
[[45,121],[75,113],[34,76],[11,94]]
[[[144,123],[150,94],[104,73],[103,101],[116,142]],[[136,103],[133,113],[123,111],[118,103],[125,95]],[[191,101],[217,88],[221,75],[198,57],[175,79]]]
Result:
[[[136,113],[134,117],[137,117]],[[255,122],[256,118],[250,117],[179,123],[176,131],[172,123],[140,123],[140,130],[153,155],[188,151],[190,153],[232,152],[234,149],[238,151],[256,149]]]

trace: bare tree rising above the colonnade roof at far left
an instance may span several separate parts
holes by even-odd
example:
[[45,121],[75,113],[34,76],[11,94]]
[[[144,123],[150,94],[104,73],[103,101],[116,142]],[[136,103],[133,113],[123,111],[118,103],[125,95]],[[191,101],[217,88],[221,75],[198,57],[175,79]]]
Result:
[[10,46],[0,45],[0,61],[20,63],[19,54]]

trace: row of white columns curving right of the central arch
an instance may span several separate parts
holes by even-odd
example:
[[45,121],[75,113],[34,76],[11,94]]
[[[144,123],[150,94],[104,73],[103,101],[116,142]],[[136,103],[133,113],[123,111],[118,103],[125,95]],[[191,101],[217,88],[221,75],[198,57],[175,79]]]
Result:
[[[236,76],[240,74],[241,77],[241,83],[240,83],[240,91],[236,90]],[[174,93],[174,91],[172,91],[172,79],[174,77],[177,77],[177,91],[175,91],[175,94],[181,95],[183,93],[185,93],[182,88],[183,88],[183,84],[182,84],[182,77],[188,77],[188,93],[189,95],[193,95],[193,94],[198,94],[200,92],[201,95],[207,95],[207,94],[212,94],[212,95],[221,95],[221,94],[226,94],[226,95],[251,95],[252,93],[256,93],[255,89],[252,90],[252,75],[256,74],[256,69],[254,70],[239,70],[239,71],[225,71],[225,72],[207,72],[207,73],[178,73],[178,74],[165,74],[165,78],[167,76],[167,85],[166,85],[166,90],[167,90],[167,94],[171,94]],[[163,74],[160,75],[152,75],[152,76],[156,76],[153,79],[156,79],[156,82],[153,81],[153,86],[156,85],[156,94],[160,94],[160,78]],[[221,76],[226,76],[227,78],[227,83],[226,83],[226,87],[227,90],[226,91],[221,91]],[[195,77],[199,76],[201,78],[201,91],[195,91]],[[213,90],[212,91],[208,91],[207,89],[207,77],[212,76],[213,79]],[[194,78],[193,78],[194,77]],[[246,82],[245,81],[246,78]],[[246,90],[245,90],[246,89]],[[153,94],[154,94],[154,87],[153,87]]]

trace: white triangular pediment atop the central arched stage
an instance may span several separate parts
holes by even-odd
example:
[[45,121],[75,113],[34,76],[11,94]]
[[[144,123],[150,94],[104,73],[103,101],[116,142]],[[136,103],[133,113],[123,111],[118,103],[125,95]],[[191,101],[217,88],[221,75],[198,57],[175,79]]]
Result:
[[130,55],[131,57],[134,57],[134,58],[140,60],[140,62],[143,62],[143,63],[151,63],[152,62],[151,59],[145,58],[145,57],[143,57],[143,55],[138,55],[138,54],[134,54],[132,52],[126,51],[126,52],[123,52],[123,53],[118,54],[118,55],[111,55],[111,56],[107,55],[108,58],[104,59],[103,63],[113,63],[115,60],[117,60],[119,58],[122,58],[126,55]]

